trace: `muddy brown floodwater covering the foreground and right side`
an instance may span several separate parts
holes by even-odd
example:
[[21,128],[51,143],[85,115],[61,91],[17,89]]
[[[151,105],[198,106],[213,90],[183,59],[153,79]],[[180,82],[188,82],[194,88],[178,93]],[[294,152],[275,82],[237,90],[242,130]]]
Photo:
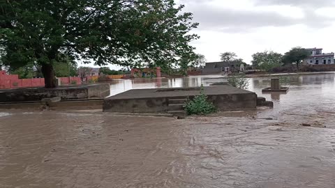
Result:
[[335,187],[334,75],[287,84],[274,109],[184,120],[0,113],[0,187]]

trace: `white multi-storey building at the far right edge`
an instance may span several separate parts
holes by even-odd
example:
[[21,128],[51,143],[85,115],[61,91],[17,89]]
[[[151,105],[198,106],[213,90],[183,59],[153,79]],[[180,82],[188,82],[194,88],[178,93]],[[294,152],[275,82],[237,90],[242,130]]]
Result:
[[334,53],[322,53],[322,48],[308,48],[311,53],[308,58],[304,59],[303,65],[327,65],[334,64]]

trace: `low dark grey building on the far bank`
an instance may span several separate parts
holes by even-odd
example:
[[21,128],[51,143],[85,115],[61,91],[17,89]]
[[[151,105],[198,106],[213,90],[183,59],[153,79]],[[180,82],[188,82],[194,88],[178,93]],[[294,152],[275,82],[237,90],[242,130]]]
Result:
[[240,61],[218,61],[206,63],[206,65],[202,69],[202,74],[206,75],[239,71],[244,71],[244,65]]

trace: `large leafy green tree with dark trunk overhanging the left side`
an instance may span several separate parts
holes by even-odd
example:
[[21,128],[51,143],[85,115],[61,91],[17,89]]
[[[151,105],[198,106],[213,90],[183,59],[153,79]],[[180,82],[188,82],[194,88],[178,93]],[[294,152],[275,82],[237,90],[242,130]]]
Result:
[[128,67],[178,63],[192,56],[188,34],[198,23],[174,0],[0,1],[3,64],[41,66],[55,87],[54,65],[64,57]]

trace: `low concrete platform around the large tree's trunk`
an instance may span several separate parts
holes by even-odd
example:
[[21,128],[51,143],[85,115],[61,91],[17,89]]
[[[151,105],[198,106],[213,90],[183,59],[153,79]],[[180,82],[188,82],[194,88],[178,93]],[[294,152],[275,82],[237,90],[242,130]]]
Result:
[[93,84],[59,88],[15,88],[0,90],[0,102],[40,101],[61,97],[61,100],[103,98],[110,95],[110,84]]

